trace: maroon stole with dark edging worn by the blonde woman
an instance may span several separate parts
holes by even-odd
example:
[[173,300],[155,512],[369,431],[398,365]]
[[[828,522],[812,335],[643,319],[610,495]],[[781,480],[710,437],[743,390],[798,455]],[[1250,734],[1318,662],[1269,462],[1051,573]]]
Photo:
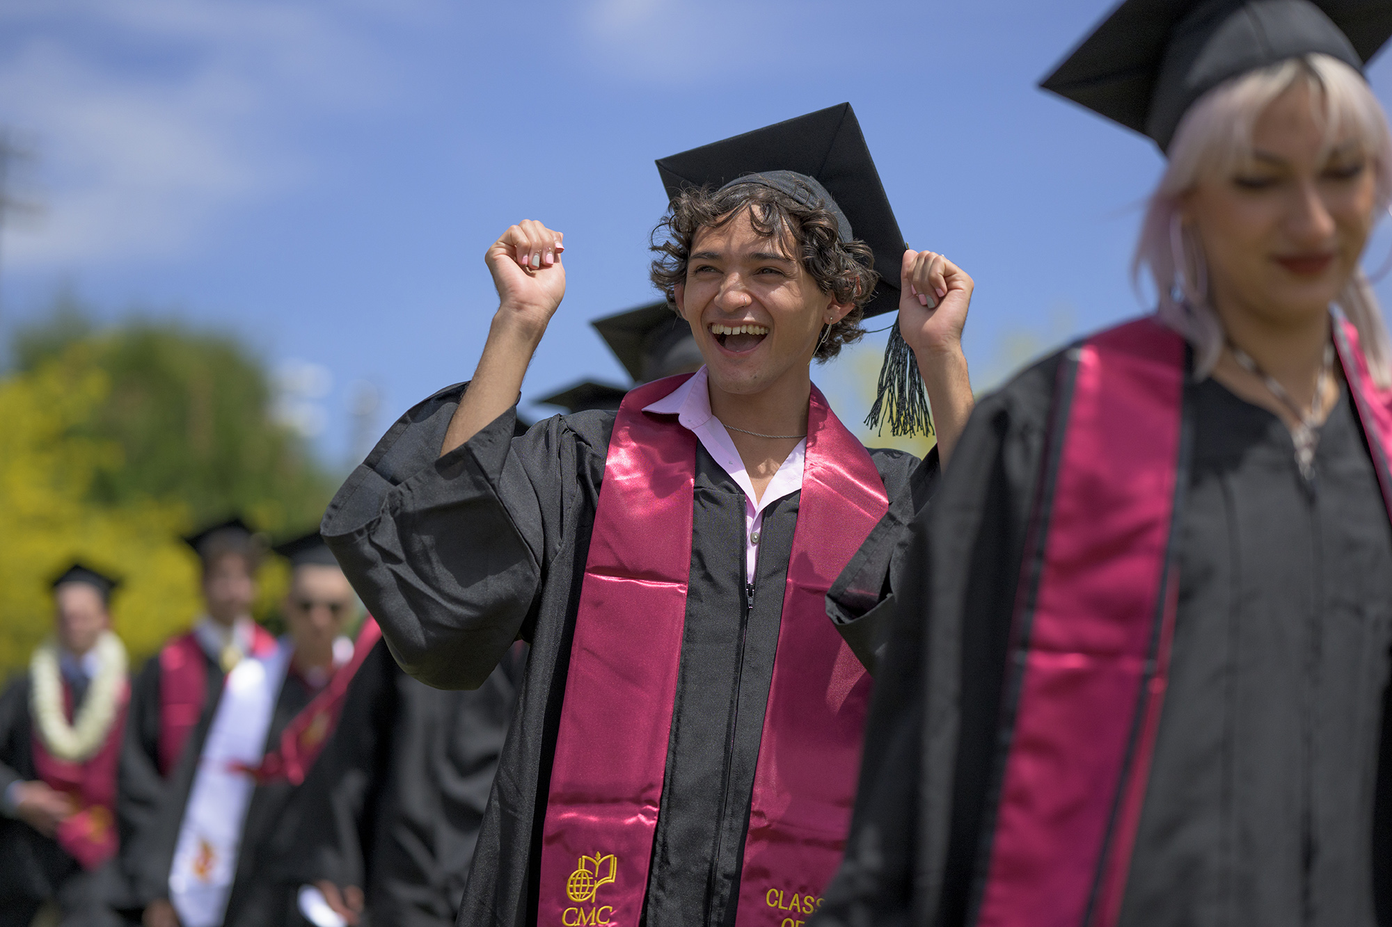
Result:
[[[1335,342],[1392,516],[1392,391]],[[1111,927],[1160,727],[1187,484],[1185,342],[1153,319],[1069,352],[1030,521],[979,926]]]

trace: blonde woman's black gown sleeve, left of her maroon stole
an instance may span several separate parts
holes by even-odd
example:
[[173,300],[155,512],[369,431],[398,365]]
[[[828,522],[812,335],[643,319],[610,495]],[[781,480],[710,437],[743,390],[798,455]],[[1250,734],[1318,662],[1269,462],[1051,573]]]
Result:
[[846,855],[814,927],[965,920],[1057,366],[984,399],[933,505],[895,540],[884,529],[898,604],[877,647]]

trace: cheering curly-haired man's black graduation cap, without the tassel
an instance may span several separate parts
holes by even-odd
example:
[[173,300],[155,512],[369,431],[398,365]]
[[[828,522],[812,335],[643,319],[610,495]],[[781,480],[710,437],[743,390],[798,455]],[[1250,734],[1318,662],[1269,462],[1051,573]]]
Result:
[[[846,220],[842,238],[859,238],[874,252],[880,284],[866,316],[899,308],[903,232],[849,103],[658,159],[657,173],[668,199],[683,187],[720,188],[749,174],[761,174],[770,187],[799,202],[810,188],[838,220]],[[813,182],[799,185],[798,180]]]

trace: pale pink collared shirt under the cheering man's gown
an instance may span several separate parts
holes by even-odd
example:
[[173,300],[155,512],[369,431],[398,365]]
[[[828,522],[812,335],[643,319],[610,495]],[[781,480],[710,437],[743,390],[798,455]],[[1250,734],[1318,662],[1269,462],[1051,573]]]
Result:
[[710,411],[710,384],[706,367],[697,370],[686,383],[657,402],[643,406],[643,411],[675,415],[677,422],[700,440],[706,452],[745,491],[745,582],[754,582],[754,562],[759,555],[759,536],[764,523],[764,509],[782,497],[792,496],[802,489],[802,468],[807,458],[807,438],[798,441],[798,447],[788,454],[778,466],[778,472],[768,480],[763,498],[756,501],[754,483],[745,470],[745,462],[739,458],[735,441],[729,437],[729,431],[725,430],[720,419]]

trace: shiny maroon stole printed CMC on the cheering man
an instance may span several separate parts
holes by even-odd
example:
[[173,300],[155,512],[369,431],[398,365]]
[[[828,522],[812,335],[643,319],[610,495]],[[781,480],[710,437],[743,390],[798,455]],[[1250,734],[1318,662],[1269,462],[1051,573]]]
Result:
[[[643,406],[685,379],[633,390],[614,422],[551,767],[539,923],[638,927],[642,914],[686,618],[697,440]],[[870,676],[827,618],[825,594],[887,511],[870,455],[813,387],[741,926],[805,920],[841,860]]]

